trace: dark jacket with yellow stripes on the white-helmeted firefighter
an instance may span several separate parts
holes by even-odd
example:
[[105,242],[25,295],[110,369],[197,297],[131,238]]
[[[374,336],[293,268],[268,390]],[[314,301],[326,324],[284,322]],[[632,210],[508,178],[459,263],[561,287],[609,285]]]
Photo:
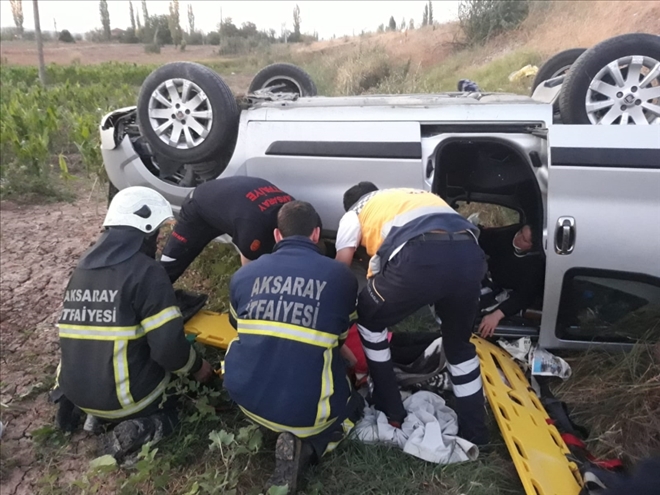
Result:
[[112,266],[76,268],[58,327],[58,384],[74,404],[101,418],[156,407],[170,372],[201,366],[165,270],[139,252]]

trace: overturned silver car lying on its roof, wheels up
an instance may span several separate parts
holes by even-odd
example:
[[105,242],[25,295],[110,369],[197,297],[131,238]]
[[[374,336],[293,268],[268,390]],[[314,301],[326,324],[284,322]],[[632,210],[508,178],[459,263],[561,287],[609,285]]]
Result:
[[509,219],[499,228],[532,225],[546,257],[542,305],[499,334],[547,348],[660,340],[660,37],[571,57],[541,68],[533,97],[323,97],[275,64],[240,110],[218,74],[168,64],[137,107],[101,122],[110,194],[148,186],[176,210],[201,182],[263,177],[314,204],[330,242],[343,192],[363,180],[430,190],[459,211],[496,205]]

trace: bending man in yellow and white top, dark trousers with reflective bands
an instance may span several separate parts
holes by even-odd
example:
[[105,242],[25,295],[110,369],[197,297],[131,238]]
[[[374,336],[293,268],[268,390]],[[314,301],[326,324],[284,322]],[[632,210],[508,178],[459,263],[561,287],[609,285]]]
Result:
[[403,422],[406,413],[387,328],[425,305],[435,305],[460,434],[486,444],[479,359],[470,342],[486,271],[478,229],[442,198],[418,189],[379,191],[371,182],[361,182],[344,194],[344,208],[337,259],[350,265],[359,246],[371,256],[367,286],[358,297],[358,331],[374,382],[375,406],[391,424]]

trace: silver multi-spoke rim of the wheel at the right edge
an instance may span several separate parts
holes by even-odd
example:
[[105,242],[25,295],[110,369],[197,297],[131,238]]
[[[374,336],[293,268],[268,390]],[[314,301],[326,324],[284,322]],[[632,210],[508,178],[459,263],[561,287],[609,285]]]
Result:
[[586,96],[592,124],[660,125],[660,62],[632,55],[603,67]]

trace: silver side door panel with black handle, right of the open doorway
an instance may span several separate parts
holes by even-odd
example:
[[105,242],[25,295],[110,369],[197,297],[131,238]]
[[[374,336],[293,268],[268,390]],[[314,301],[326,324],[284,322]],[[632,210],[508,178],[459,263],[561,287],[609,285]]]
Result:
[[[624,274],[622,280],[625,274],[630,279],[645,274],[660,280],[660,126],[555,126],[550,145],[540,344],[584,348],[591,342],[562,340],[557,335],[569,270],[618,272]],[[570,159],[566,150],[588,153]],[[568,158],[559,158],[560,151]],[[600,160],[598,153],[602,153]],[[585,163],[580,165],[580,161]],[[557,221],[562,217],[575,222],[570,254],[558,254],[554,246]]]

